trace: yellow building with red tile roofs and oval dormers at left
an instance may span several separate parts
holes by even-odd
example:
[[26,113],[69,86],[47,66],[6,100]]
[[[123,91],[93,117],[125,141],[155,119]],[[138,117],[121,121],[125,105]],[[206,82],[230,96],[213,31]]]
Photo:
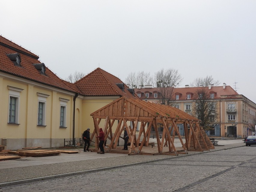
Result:
[[72,84],[38,59],[0,36],[0,145],[5,149],[79,141],[87,127],[94,128],[92,112],[121,96],[138,98],[119,78],[100,68]]

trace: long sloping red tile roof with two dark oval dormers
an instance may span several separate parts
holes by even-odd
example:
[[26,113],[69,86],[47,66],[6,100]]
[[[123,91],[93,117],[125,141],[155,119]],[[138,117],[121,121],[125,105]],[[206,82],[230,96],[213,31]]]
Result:
[[[14,48],[14,49],[13,49]],[[19,53],[21,57],[21,67],[15,66],[8,58],[8,53]],[[41,75],[33,64],[41,63],[38,56],[28,50],[14,44],[0,35],[0,72],[15,75],[38,83],[57,87],[71,92],[79,92],[79,89],[69,82],[60,79],[50,69],[46,67],[46,75]]]

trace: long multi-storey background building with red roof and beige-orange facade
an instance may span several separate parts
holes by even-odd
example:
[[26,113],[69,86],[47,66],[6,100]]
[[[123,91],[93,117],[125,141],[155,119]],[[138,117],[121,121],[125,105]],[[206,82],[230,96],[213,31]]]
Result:
[[[193,114],[193,104],[197,99],[197,90],[200,88],[208,90],[209,97],[216,102],[218,109],[218,117],[215,119],[215,123],[211,125],[212,129],[206,131],[208,136],[244,138],[253,134],[255,131],[256,104],[245,96],[239,95],[225,83],[223,86],[217,87],[209,84],[208,87],[189,87],[186,85],[182,88],[173,86],[165,89],[170,94],[168,97],[171,99],[173,107]],[[135,92],[143,100],[161,103],[162,93],[166,90],[145,86],[145,88],[135,89]],[[178,127],[180,134],[184,135],[184,125],[179,124]],[[159,131],[161,131],[161,127],[159,127]]]

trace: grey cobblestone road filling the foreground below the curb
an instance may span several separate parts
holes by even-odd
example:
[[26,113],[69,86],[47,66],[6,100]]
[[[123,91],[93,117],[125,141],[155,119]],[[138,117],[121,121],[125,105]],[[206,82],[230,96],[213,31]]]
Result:
[[0,191],[255,191],[255,163],[256,146],[239,147],[0,187]]

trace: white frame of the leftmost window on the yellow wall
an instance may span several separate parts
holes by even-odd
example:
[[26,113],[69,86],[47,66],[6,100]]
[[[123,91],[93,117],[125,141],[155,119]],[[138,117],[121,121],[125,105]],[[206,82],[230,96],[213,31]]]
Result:
[[[8,107],[8,123],[15,123],[18,124],[19,123],[19,107],[20,107],[20,92],[22,92],[24,89],[20,89],[17,87],[11,87],[11,86],[7,86],[8,90],[9,90],[9,107]],[[15,121],[12,122],[9,119],[10,116],[10,102],[11,102],[11,98],[15,98]]]

